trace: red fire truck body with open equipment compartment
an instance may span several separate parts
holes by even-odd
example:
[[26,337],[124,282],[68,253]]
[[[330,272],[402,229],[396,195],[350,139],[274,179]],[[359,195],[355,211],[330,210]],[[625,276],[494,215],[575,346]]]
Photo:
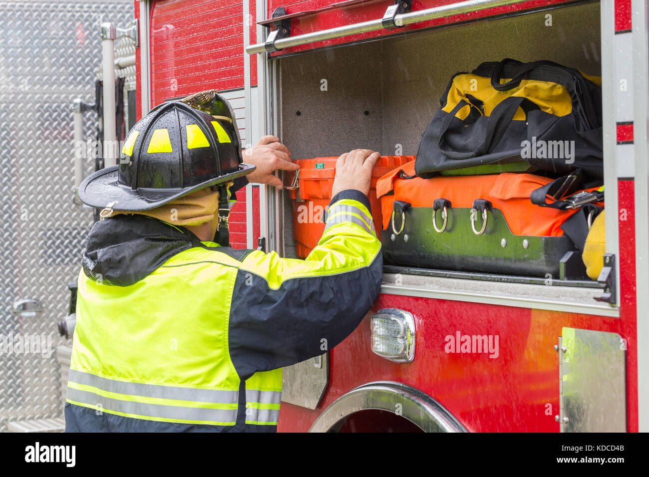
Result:
[[[647,4],[134,2],[138,119],[217,89],[243,144],[275,134],[294,159],[416,154],[448,79],[484,61],[552,60],[602,77],[600,282],[570,279],[569,261],[543,278],[386,266],[356,331],[284,370],[280,431],[649,430]],[[262,239],[296,256],[291,201],[286,189],[238,193],[234,246]]]

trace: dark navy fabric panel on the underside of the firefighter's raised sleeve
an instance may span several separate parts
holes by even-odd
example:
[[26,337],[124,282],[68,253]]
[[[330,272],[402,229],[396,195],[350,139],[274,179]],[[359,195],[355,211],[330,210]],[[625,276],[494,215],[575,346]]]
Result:
[[230,307],[230,358],[239,376],[319,356],[361,323],[378,297],[379,252],[369,267],[336,275],[291,278],[271,289],[239,270]]

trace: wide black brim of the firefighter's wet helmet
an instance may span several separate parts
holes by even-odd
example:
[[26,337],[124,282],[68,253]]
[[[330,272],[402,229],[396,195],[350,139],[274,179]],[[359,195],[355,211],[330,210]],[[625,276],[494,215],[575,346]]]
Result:
[[191,194],[197,190],[215,186],[223,182],[230,182],[236,178],[248,175],[256,169],[251,164],[239,164],[238,170],[210,180],[206,180],[196,186],[184,189],[153,189],[139,188],[132,190],[129,186],[119,184],[117,175],[119,165],[112,165],[97,171],[86,177],[79,186],[79,199],[92,207],[104,208],[111,202],[114,210],[124,212],[140,212],[151,210],[171,202],[174,199]]

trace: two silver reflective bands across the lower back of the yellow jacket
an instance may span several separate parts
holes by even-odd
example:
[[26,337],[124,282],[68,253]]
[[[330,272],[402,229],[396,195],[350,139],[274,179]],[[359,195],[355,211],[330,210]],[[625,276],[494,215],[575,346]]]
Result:
[[[236,406],[239,400],[239,391],[123,382],[95,374],[82,373],[74,369],[70,369],[69,383],[88,385],[101,389],[101,391],[124,395],[123,399],[105,397],[90,389],[75,389],[68,385],[66,396],[68,400],[88,404],[106,412],[114,411],[180,421],[218,422],[224,425],[234,425],[237,418],[236,407],[234,409],[214,409],[206,408],[204,405],[227,404],[232,406],[234,404]],[[138,402],[136,397],[168,399],[169,403]],[[185,406],[175,406],[175,404],[180,404],[175,401],[188,402],[183,403]],[[195,402],[195,406],[191,406],[193,402]]]

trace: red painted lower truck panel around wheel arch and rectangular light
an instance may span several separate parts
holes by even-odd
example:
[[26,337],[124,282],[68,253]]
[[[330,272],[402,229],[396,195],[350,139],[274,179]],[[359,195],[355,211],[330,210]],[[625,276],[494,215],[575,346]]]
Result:
[[[397,381],[434,397],[472,432],[559,432],[559,365],[554,345],[569,326],[615,332],[635,341],[635,318],[618,319],[451,300],[380,295],[373,311],[400,308],[415,316],[416,357],[397,364],[371,352],[369,317],[330,353],[323,402],[307,410],[282,402],[278,430],[305,432],[336,398],[371,381]],[[631,312],[625,316],[631,315]],[[457,333],[498,336],[498,356],[445,351]],[[635,348],[628,354],[628,422],[637,430],[633,402]]]

